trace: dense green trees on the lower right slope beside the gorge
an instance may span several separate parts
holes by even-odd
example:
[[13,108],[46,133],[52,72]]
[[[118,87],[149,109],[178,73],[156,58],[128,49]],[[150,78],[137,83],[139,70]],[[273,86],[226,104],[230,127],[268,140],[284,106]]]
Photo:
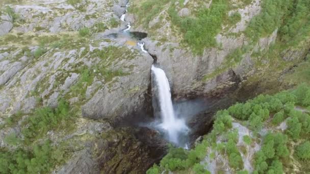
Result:
[[[159,165],[155,164],[147,173],[202,169],[204,167],[200,166],[201,161],[207,155],[214,159],[214,153],[207,154],[210,150],[227,158],[229,166],[237,173],[248,173],[243,170],[241,158],[241,153],[246,154],[246,149],[236,146],[239,138],[238,131],[232,129],[233,118],[235,122],[242,123],[253,131],[253,137],[242,137],[246,144],[260,143],[260,139],[262,140],[261,150],[254,154],[253,173],[283,173],[290,167],[288,164],[296,160],[302,164],[302,168],[307,168],[310,159],[310,115],[295,108],[310,105],[307,93],[310,93],[310,87],[302,84],[296,90],[283,91],[273,96],[259,95],[245,103],[236,103],[227,110],[220,110],[215,115],[213,130],[204,136],[201,143],[190,151],[171,147]],[[268,131],[264,135],[258,134],[262,127],[273,127],[273,124],[279,124],[286,118],[287,130],[272,129],[272,132]],[[219,136],[221,142],[218,142]],[[296,160],[292,159],[290,142],[300,142],[301,139],[302,142],[293,147]]]

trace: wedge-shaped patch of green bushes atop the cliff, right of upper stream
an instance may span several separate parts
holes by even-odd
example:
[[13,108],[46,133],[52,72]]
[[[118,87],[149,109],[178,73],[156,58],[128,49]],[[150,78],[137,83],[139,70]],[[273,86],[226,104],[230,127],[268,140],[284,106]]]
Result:
[[199,9],[195,18],[180,18],[171,4],[168,9],[171,21],[180,28],[185,42],[194,52],[202,54],[205,47],[217,46],[215,36],[221,31],[224,18],[227,17],[227,0],[212,1],[211,7]]

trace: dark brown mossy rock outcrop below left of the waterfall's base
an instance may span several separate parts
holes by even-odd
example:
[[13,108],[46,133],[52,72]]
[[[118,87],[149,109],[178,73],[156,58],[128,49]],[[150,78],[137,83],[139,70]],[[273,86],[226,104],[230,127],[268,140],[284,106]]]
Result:
[[108,131],[54,173],[145,173],[162,158],[166,143],[148,128]]

